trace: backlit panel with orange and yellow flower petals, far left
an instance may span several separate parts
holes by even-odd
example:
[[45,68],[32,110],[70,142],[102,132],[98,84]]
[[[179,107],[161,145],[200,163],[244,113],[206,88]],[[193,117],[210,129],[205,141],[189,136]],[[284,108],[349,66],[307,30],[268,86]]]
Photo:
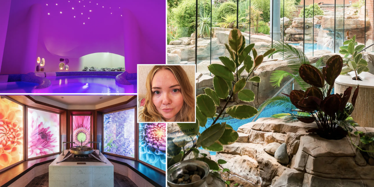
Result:
[[0,98],[0,170],[24,159],[23,107]]

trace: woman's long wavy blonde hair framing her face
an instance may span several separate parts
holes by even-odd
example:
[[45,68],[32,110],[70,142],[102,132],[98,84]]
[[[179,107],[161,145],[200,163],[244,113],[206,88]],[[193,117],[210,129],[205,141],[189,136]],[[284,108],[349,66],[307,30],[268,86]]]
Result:
[[180,65],[155,65],[152,70],[148,73],[146,88],[147,94],[145,96],[144,109],[139,116],[142,115],[143,122],[159,122],[162,119],[162,115],[157,111],[156,106],[153,104],[153,92],[152,92],[152,80],[154,74],[159,70],[171,71],[175,79],[177,79],[181,86],[181,93],[183,96],[183,106],[181,110],[175,114],[175,122],[194,122],[195,121],[195,98],[193,94],[193,88],[186,71]]

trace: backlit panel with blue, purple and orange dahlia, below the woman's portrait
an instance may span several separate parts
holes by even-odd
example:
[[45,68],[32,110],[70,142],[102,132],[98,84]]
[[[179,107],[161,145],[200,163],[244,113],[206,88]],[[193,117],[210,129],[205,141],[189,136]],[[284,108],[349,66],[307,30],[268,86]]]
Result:
[[166,123],[139,123],[139,160],[166,169]]

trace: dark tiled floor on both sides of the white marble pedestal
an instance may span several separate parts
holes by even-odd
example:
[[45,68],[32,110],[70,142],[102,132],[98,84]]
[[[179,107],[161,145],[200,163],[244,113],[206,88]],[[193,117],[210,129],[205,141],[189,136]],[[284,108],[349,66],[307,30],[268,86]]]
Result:
[[[48,187],[48,173],[35,177],[26,187]],[[138,187],[130,178],[114,172],[114,187]]]

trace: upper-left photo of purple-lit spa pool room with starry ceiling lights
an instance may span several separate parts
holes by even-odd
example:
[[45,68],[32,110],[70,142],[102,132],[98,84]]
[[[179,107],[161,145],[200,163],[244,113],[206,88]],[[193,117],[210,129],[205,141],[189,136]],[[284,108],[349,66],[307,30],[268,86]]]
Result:
[[165,64],[166,1],[0,0],[0,93],[136,93]]

